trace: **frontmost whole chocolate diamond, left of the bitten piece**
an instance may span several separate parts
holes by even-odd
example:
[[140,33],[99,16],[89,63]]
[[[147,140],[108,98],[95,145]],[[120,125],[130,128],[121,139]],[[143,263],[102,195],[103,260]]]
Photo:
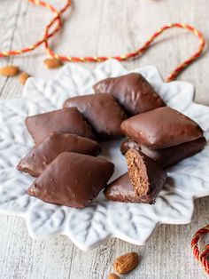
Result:
[[102,158],[64,152],[35,179],[27,194],[46,203],[82,208],[91,203],[114,171]]

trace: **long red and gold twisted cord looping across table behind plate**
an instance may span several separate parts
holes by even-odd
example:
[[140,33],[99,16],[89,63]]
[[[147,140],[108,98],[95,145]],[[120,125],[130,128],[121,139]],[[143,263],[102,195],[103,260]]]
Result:
[[[62,28],[62,20],[61,15],[66,12],[66,10],[71,6],[71,0],[66,1],[66,5],[58,11],[54,6],[51,4],[45,3],[41,0],[28,0],[31,3],[34,3],[36,5],[41,5],[47,9],[49,9],[54,14],[54,18],[50,21],[50,23],[45,28],[44,36],[41,40],[37,41],[35,44],[32,44],[26,48],[20,49],[20,50],[14,50],[14,51],[8,51],[8,52],[0,52],[0,57],[6,57],[6,56],[12,56],[12,55],[19,55],[25,52],[31,52],[35,50],[35,48],[39,47],[41,44],[44,44],[46,52],[53,58],[56,58],[58,60],[62,61],[73,61],[73,62],[102,62],[108,59],[115,59],[115,60],[129,60],[134,59],[138,57],[139,55],[143,54],[150,46],[151,43],[164,31],[170,28],[183,28],[188,31],[190,31],[193,35],[197,36],[199,39],[199,46],[197,49],[197,52],[195,52],[188,60],[185,60],[181,65],[179,65],[177,68],[174,69],[174,71],[167,76],[166,81],[170,82],[174,80],[177,76],[182,73],[184,68],[187,68],[194,60],[197,60],[197,58],[202,54],[205,48],[205,38],[204,36],[196,29],[191,27],[190,25],[182,24],[182,23],[172,23],[167,24],[166,26],[159,28],[157,32],[155,32],[139,49],[137,49],[135,52],[130,52],[125,55],[120,56],[113,56],[113,57],[106,57],[106,56],[92,56],[92,57],[76,57],[76,56],[64,56],[60,55],[56,52],[53,52],[53,50],[50,48],[50,44],[48,40],[50,37],[55,36],[55,34]],[[49,30],[55,23],[58,23],[57,27],[49,33]]]

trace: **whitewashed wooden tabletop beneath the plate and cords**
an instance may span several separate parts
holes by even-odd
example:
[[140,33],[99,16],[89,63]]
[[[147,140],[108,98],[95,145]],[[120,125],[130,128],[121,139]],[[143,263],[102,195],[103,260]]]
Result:
[[[65,1],[51,3],[62,5]],[[0,0],[0,50],[27,46],[43,34],[50,12],[27,0]],[[113,55],[143,44],[156,28],[182,21],[199,28],[209,39],[208,0],[76,0],[66,14],[65,29],[53,41],[58,52],[72,55]],[[159,67],[163,76],[197,48],[197,39],[186,31],[172,30],[160,37],[142,58],[124,63],[127,68],[148,64]],[[19,65],[32,76],[50,77],[57,70],[43,66],[43,48],[17,58],[1,59],[0,65]],[[197,102],[209,105],[209,55],[193,64],[179,79],[196,85]],[[95,64],[85,67],[94,68]],[[0,77],[0,97],[20,97],[17,78]],[[1,109],[1,108],[0,108]],[[111,239],[95,251],[83,252],[66,236],[32,240],[25,221],[0,215],[0,278],[2,279],[100,279],[107,278],[116,256],[138,251],[140,266],[126,278],[206,278],[190,251],[190,239],[209,221],[209,197],[198,199],[190,225],[161,226],[151,241],[137,247]],[[123,278],[125,278],[123,277]]]

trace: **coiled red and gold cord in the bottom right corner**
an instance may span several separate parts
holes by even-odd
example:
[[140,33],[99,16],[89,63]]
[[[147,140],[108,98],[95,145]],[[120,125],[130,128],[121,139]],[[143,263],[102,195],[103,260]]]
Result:
[[200,228],[193,236],[191,241],[191,249],[195,255],[195,258],[204,266],[206,274],[209,275],[209,244],[205,245],[205,248],[201,252],[198,248],[198,241],[200,237],[206,234],[209,234],[209,225]]

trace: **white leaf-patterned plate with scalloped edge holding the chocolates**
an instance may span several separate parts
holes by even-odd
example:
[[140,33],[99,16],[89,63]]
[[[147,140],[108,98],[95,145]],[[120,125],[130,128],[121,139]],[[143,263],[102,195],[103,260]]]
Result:
[[[197,121],[209,137],[209,108],[194,103],[194,87],[183,82],[164,83],[157,68],[137,68],[159,92],[166,104]],[[115,60],[90,71],[74,64],[63,67],[53,80],[29,78],[24,98],[0,100],[0,211],[27,220],[32,237],[67,235],[81,250],[97,247],[114,236],[143,245],[159,224],[190,223],[194,198],[209,195],[209,147],[168,170],[169,178],[154,205],[116,203],[101,193],[89,207],[76,210],[29,197],[33,178],[16,171],[15,165],[33,142],[26,130],[27,116],[62,108],[66,98],[92,92],[92,85],[108,76],[128,73]],[[116,165],[114,178],[126,171],[120,143],[104,144],[103,154]]]

